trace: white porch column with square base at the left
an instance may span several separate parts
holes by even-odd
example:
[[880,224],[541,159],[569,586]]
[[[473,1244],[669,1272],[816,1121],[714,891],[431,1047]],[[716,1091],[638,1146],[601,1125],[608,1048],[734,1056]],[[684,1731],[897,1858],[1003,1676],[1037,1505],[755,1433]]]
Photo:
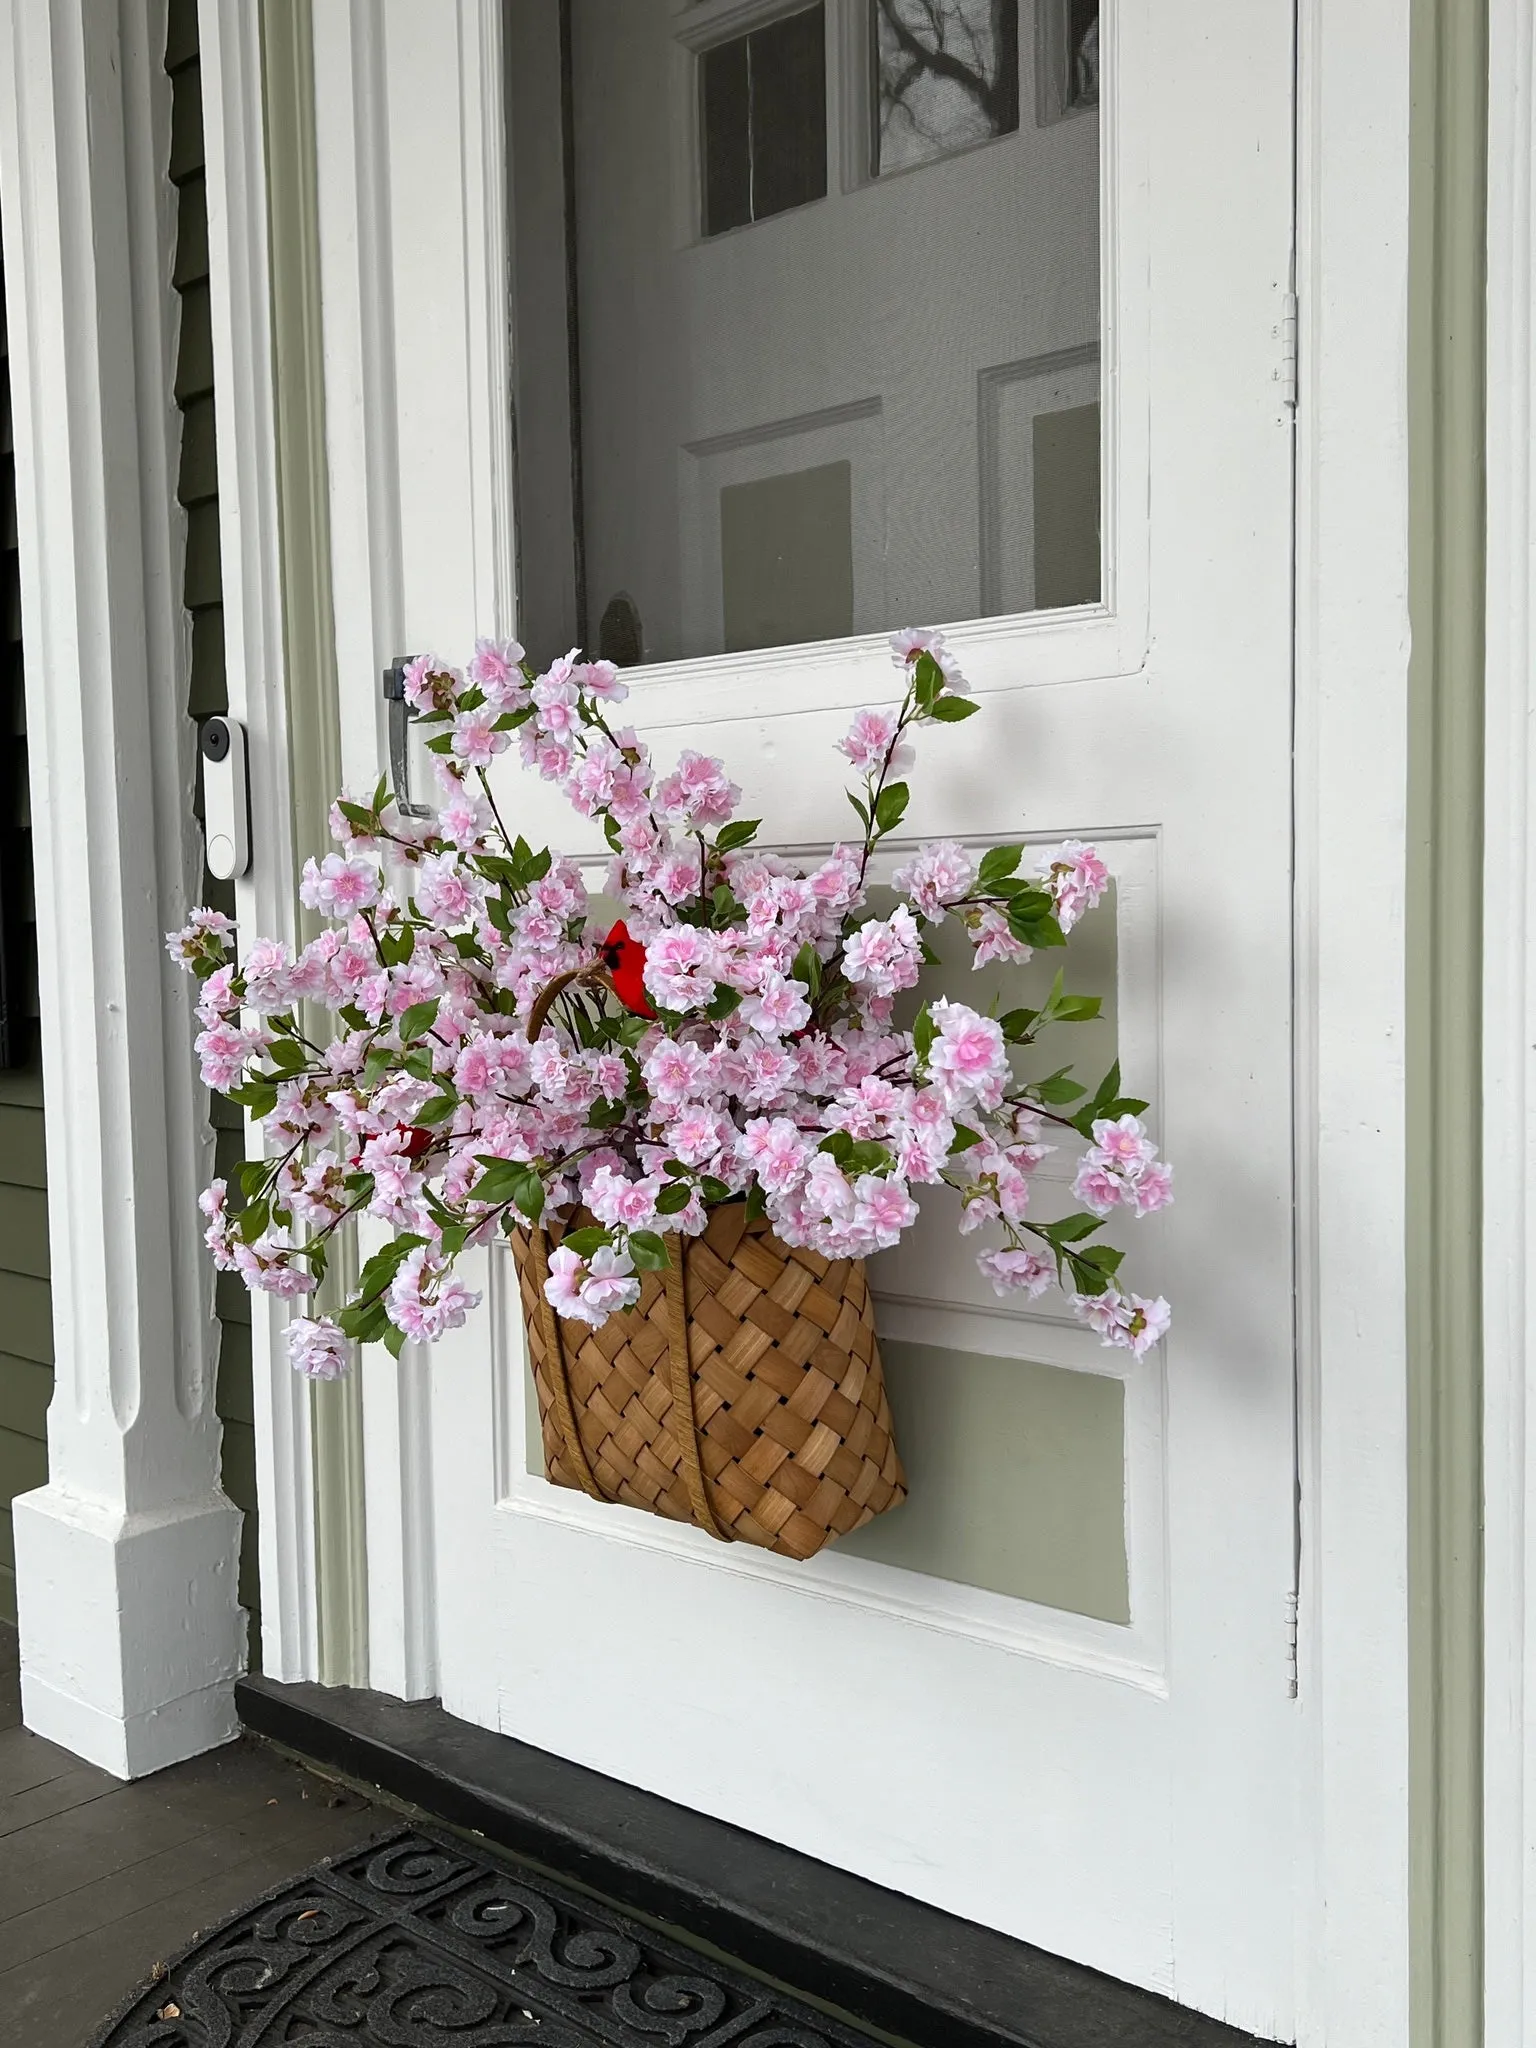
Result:
[[0,0],[57,1384],[14,1503],[27,1724],[139,1776],[236,1735],[207,1139],[162,932],[197,872],[164,0]]

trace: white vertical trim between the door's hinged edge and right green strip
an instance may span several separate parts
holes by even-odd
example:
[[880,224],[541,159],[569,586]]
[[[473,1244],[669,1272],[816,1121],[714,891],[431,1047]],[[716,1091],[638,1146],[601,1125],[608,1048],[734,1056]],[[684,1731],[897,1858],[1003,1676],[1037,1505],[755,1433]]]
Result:
[[1296,2038],[1409,2040],[1409,8],[1298,8]]

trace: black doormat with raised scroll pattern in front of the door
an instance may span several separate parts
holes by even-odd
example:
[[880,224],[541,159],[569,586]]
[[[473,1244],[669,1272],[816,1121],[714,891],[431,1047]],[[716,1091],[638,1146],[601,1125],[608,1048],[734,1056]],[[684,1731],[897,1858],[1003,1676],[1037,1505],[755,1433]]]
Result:
[[92,2048],[868,2048],[754,1978],[414,1829],[201,1935]]

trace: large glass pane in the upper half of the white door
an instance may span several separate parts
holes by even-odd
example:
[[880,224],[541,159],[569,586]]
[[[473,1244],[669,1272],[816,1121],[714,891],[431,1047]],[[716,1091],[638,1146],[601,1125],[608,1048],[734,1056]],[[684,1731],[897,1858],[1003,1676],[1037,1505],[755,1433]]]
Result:
[[506,6],[530,655],[1098,602],[1096,0],[741,23]]

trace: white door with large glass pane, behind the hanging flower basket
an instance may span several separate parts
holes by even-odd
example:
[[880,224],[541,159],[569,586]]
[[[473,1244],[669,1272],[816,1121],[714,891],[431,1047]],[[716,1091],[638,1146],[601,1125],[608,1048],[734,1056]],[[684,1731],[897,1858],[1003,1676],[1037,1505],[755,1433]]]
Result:
[[983,715],[907,827],[1100,844],[1102,1051],[1178,1167],[1143,1364],[952,1219],[879,1272],[913,1495],[809,1565],[547,1485],[492,1257],[430,1362],[442,1700],[1290,2038],[1292,8],[391,0],[317,63],[354,778],[379,662],[510,629],[516,565],[537,657],[637,664],[657,752],[825,844],[885,633],[946,623]]

